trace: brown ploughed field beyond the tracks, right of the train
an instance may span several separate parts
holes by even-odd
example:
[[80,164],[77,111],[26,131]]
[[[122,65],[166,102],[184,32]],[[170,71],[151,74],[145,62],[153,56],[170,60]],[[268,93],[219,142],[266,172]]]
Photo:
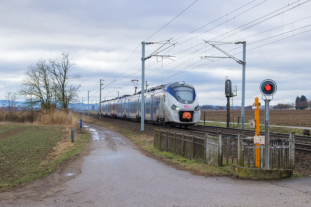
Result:
[[[227,111],[205,111],[206,121],[227,121]],[[234,122],[238,122],[241,111],[234,111]],[[264,124],[265,111],[259,110],[259,123]],[[204,111],[201,111],[201,120]],[[255,119],[255,110],[245,110],[245,122]],[[241,121],[241,120],[240,120]],[[311,127],[311,110],[270,110],[270,125]]]

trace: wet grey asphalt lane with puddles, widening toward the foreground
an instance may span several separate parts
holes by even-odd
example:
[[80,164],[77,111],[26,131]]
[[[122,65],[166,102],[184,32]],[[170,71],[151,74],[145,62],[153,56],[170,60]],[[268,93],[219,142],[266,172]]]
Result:
[[269,183],[192,175],[143,155],[118,133],[85,127],[93,140],[81,173],[49,189],[36,206],[311,206],[311,178]]

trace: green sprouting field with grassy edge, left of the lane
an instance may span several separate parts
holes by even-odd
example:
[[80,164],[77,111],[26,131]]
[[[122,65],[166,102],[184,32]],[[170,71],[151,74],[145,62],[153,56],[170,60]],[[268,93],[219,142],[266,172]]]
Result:
[[[90,135],[76,134],[71,143],[67,129],[59,126],[0,125],[0,191],[51,173],[57,164],[81,152]],[[57,149],[60,141],[68,144]]]

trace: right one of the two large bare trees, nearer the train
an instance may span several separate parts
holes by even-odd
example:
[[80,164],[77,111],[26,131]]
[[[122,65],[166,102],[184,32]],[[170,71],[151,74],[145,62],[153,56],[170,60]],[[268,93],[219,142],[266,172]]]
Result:
[[69,51],[63,52],[60,57],[50,59],[50,72],[53,74],[53,84],[56,89],[57,100],[60,103],[60,107],[67,112],[69,103],[77,100],[81,86],[69,84],[73,79],[81,78],[79,74],[69,74],[71,68],[74,68],[76,65],[72,59],[69,58]]

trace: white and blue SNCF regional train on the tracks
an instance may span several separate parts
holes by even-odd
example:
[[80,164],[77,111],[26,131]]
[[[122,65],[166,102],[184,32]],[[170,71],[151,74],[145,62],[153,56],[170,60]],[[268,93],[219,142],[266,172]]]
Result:
[[[98,115],[141,121],[142,92],[101,102]],[[173,82],[145,90],[145,121],[166,126],[194,125],[200,121],[197,93],[186,82]]]

